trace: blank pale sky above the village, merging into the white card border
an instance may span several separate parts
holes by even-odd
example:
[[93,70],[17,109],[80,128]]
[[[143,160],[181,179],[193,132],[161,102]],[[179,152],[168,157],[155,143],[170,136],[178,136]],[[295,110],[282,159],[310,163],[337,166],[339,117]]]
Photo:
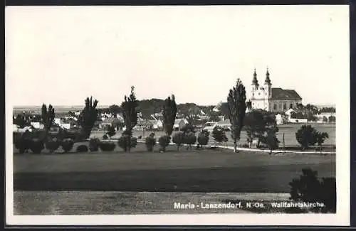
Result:
[[[7,6],[6,100],[121,104],[174,94],[226,101],[253,69],[303,103],[335,104],[349,81],[348,6]],[[340,89],[339,89],[340,90]],[[348,89],[347,89],[348,90]]]

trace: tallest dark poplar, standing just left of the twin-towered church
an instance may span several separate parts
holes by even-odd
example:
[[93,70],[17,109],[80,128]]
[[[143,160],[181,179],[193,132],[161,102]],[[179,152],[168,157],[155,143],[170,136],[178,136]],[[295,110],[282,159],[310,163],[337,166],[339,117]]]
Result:
[[246,113],[246,90],[241,80],[236,81],[227,97],[228,116],[231,122],[231,138],[234,140],[234,152],[237,152],[237,142],[241,138],[241,129],[244,126]]

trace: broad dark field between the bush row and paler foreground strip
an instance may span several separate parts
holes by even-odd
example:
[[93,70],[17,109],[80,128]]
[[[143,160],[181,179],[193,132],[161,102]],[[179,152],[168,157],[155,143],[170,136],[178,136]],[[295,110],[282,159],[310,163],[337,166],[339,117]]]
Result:
[[335,155],[232,151],[48,154],[14,156],[15,190],[120,190],[261,192],[289,191],[302,168],[335,176]]

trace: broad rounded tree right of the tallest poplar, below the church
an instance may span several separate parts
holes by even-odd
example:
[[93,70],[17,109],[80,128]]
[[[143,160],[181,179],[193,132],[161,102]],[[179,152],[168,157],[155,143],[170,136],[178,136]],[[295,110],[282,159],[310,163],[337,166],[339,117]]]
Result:
[[267,133],[276,134],[278,132],[276,116],[261,109],[255,109],[246,114],[244,128],[246,129],[247,141],[250,147],[253,139],[257,139],[257,147],[259,147],[262,136]]

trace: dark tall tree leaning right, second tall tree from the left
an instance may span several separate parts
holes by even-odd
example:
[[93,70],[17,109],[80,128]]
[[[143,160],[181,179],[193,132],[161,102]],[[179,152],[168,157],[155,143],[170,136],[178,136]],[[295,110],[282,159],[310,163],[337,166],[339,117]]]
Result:
[[85,107],[78,117],[80,125],[80,138],[88,139],[90,137],[91,130],[94,127],[95,121],[98,117],[98,100],[94,100],[93,97],[87,97],[85,99]]

